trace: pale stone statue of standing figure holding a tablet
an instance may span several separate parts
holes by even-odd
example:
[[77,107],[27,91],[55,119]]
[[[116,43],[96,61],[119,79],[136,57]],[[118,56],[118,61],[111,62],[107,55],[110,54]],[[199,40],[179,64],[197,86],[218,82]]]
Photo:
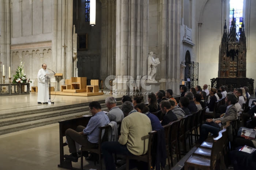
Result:
[[150,76],[148,80],[155,81],[155,74],[157,73],[157,65],[160,64],[158,58],[154,59],[154,53],[150,52],[147,59],[148,69],[147,74]]

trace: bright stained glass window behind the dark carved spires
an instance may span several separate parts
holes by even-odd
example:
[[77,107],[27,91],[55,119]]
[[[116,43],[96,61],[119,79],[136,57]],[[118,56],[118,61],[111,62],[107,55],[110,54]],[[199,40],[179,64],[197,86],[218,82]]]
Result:
[[230,0],[230,13],[229,13],[229,25],[233,18],[233,9],[234,9],[234,19],[236,23],[236,32],[238,37],[242,31],[242,20],[243,20],[243,1],[244,0]]

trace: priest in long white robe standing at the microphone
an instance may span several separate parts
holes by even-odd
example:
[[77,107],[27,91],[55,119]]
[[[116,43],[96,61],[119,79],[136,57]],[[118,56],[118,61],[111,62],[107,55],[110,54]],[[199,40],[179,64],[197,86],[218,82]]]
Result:
[[48,104],[49,98],[49,87],[48,87],[48,70],[46,70],[46,64],[42,64],[42,68],[38,71],[38,94],[37,94],[37,103],[38,104]]

